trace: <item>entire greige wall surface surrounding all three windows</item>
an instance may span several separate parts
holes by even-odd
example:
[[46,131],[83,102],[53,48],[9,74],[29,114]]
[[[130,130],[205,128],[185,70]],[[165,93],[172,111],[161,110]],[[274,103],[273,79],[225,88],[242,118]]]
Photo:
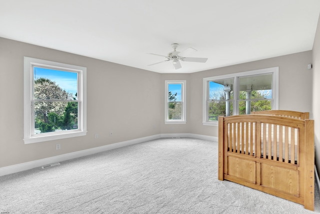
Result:
[[[87,68],[86,136],[24,144],[23,56]],[[192,74],[158,74],[0,38],[0,167],[155,134],[217,137],[216,127],[202,125],[203,77],[279,66],[279,109],[311,112],[311,59],[307,51]],[[164,124],[164,80],[186,80],[186,124]]]

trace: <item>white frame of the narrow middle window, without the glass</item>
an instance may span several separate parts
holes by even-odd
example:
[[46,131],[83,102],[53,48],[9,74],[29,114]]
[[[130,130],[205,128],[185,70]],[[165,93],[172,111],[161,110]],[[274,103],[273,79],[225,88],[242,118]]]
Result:
[[[185,124],[186,123],[186,81],[185,80],[165,80],[165,94],[164,94],[164,123],[165,124]],[[168,115],[168,85],[181,84],[181,102],[182,102],[182,115],[181,120],[169,120]]]

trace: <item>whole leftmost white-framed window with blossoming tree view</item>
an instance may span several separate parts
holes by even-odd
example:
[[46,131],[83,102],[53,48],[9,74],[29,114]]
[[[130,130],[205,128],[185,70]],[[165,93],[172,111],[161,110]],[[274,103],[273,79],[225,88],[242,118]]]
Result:
[[24,143],[86,134],[86,68],[24,57]]

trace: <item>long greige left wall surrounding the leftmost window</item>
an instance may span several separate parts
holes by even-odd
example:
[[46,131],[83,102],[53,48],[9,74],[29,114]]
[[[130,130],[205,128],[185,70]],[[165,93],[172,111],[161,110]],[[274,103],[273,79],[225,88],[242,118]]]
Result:
[[[87,68],[86,136],[24,144],[23,56]],[[158,73],[2,38],[0,65],[0,167],[160,133]]]

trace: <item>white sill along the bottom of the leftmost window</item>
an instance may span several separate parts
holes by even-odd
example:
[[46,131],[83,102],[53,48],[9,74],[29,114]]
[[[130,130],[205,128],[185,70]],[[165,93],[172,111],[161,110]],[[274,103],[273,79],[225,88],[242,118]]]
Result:
[[49,140],[59,140],[64,138],[70,138],[70,137],[79,137],[79,136],[85,136],[86,131],[77,131],[77,132],[68,132],[68,133],[59,133],[54,135],[40,135],[40,136],[32,136],[28,138],[24,138],[24,144],[29,143],[38,143],[43,141],[49,141]]

